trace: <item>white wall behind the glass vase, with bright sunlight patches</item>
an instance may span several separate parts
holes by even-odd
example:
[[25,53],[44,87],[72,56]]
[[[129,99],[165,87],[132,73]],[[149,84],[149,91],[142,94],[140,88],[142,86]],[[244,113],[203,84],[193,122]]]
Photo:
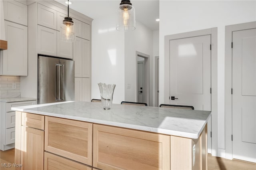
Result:
[[124,101],[124,32],[116,31],[116,15],[92,21],[92,99],[100,99],[98,83],[116,84],[113,103]]

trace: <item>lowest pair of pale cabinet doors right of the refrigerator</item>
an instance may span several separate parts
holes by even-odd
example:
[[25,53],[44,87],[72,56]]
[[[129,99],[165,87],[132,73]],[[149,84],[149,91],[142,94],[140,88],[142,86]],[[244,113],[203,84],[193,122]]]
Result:
[[75,101],[91,101],[91,79],[75,77]]

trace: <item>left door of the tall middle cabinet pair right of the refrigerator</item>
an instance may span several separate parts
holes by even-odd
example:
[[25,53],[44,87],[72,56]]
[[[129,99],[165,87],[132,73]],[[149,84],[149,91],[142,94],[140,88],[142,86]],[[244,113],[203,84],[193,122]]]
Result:
[[82,77],[82,38],[76,37],[74,42],[75,77]]

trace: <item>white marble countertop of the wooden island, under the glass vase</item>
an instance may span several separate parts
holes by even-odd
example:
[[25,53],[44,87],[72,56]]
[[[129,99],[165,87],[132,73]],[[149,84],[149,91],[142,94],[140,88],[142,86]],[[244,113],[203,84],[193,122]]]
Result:
[[210,111],[120,104],[103,110],[101,103],[79,101],[12,107],[12,110],[194,139],[211,115]]

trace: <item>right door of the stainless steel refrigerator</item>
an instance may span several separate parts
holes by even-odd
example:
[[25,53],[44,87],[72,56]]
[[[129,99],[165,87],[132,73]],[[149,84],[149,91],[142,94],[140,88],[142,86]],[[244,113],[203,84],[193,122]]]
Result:
[[60,101],[75,100],[74,61],[60,59]]

